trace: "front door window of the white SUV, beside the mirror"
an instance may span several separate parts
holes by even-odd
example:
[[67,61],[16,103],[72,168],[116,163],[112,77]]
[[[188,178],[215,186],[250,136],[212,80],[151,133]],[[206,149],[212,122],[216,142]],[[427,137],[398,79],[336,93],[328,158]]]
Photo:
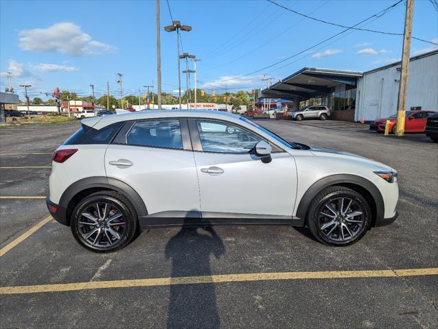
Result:
[[218,153],[248,153],[260,138],[228,123],[198,121],[200,143],[203,151]]

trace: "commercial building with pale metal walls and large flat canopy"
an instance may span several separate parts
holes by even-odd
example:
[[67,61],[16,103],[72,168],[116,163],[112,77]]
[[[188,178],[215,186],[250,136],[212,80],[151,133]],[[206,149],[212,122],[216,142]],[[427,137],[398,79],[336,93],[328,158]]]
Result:
[[[261,90],[259,99],[294,101],[292,110],[325,105],[342,121],[372,121],[397,111],[401,62],[367,72],[305,67]],[[406,110],[438,110],[438,50],[410,59]]]

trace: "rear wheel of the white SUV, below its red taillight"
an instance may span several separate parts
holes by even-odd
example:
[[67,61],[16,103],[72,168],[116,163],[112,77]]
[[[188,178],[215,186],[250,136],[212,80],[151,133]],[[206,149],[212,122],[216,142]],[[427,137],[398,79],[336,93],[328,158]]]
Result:
[[78,202],[71,215],[70,225],[76,241],[93,252],[115,252],[126,247],[137,231],[137,226],[135,208],[126,197],[115,191],[96,192]]

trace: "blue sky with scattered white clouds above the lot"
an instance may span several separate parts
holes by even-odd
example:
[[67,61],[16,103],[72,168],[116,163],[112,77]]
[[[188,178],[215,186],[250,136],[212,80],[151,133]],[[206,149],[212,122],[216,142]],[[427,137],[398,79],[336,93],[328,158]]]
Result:
[[[397,3],[273,1],[345,26]],[[310,48],[344,28],[312,21],[266,0],[161,0],[160,8],[162,90],[168,93],[178,89],[176,33],[163,29],[171,24],[171,15],[192,26],[192,31],[181,32],[182,51],[200,59],[197,86],[207,92],[262,88],[264,78],[275,82],[305,66],[367,71],[400,60],[402,53],[402,36],[357,30]],[[402,2],[358,27],[400,34],[404,12]],[[413,36],[438,43],[438,12],[431,1],[415,1]],[[433,49],[437,46],[412,40],[411,56]],[[182,61],[181,71],[185,65]],[[189,69],[193,69],[192,62]],[[56,87],[91,95],[90,84],[100,97],[106,93],[106,82],[110,93],[118,97],[117,73],[123,74],[124,95],[144,93],[145,85],[154,85],[156,91],[156,1],[0,0],[1,90],[8,86],[7,71],[12,72],[12,86],[21,99],[20,84],[32,85],[31,98],[46,99],[43,93]],[[183,73],[181,84],[185,90]]]

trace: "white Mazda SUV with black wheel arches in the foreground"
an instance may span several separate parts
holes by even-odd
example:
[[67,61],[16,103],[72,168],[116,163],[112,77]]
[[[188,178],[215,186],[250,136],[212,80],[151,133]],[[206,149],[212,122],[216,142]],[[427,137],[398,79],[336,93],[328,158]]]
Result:
[[81,245],[106,252],[140,227],[227,224],[307,226],[349,245],[394,221],[397,199],[384,164],[234,114],[166,110],[83,120],[55,151],[47,206]]

